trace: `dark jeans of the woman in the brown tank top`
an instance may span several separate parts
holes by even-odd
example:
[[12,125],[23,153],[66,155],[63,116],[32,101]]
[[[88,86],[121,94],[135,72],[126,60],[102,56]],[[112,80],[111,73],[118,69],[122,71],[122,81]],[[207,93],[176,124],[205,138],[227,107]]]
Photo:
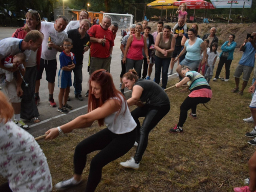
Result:
[[155,55],[155,82],[159,84],[162,70],[162,88],[165,89],[168,81],[168,69],[172,58],[160,58]]

